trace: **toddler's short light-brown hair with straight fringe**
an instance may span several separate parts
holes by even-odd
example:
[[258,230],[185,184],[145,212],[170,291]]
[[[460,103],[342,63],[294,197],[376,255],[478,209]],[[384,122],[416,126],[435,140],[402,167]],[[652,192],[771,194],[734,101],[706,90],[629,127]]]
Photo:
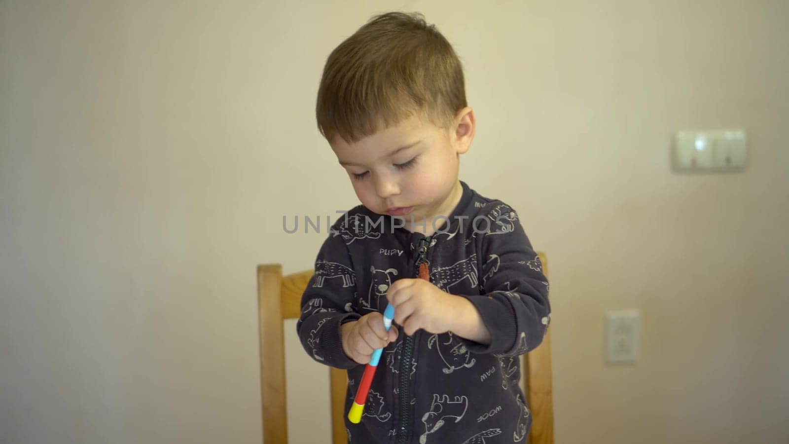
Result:
[[318,88],[318,130],[346,142],[410,115],[448,128],[466,107],[463,68],[452,46],[420,13],[372,17],[326,61]]

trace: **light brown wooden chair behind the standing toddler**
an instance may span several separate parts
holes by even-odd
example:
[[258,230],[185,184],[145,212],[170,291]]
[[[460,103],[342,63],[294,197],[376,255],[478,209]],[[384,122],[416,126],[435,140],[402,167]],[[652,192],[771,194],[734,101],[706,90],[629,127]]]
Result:
[[[540,253],[544,273],[548,261]],[[260,389],[263,401],[263,439],[265,444],[288,442],[285,396],[284,319],[301,316],[301,294],[312,277],[312,270],[282,276],[282,265],[258,265],[257,302],[260,323]],[[301,351],[301,350],[300,350]],[[524,362],[525,361],[525,362]],[[539,347],[522,361],[526,397],[533,423],[530,444],[553,444],[553,390],[551,374],[551,331]],[[331,435],[334,444],[347,444],[345,397],[346,371],[329,367],[331,372]]]

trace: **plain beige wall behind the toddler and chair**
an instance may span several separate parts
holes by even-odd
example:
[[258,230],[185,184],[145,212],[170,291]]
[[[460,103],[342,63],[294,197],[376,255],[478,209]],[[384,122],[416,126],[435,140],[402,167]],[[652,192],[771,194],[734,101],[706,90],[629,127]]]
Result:
[[[462,179],[548,253],[556,442],[789,439],[789,2],[69,3],[0,2],[0,442],[260,442],[255,265],[355,205],[316,83],[400,7],[465,63]],[[671,172],[673,131],[728,127],[745,172]],[[641,359],[608,367],[619,308]]]

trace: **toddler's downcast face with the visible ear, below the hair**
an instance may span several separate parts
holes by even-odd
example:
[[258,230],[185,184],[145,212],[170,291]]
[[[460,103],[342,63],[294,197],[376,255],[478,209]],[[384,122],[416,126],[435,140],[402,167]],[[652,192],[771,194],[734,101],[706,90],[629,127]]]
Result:
[[[360,141],[348,144],[335,137],[330,145],[362,205],[402,216],[411,231],[412,217],[416,222],[426,217],[432,231],[432,220],[450,216],[460,200],[458,156],[469,150],[473,135],[474,115],[466,107],[447,129],[414,115]],[[442,224],[436,220],[437,228]]]

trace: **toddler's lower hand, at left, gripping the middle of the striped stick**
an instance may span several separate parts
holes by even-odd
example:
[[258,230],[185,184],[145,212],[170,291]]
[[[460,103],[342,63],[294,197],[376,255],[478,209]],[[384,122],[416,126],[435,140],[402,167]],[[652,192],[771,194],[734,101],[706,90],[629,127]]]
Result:
[[365,314],[358,321],[342,324],[342,351],[353,361],[366,364],[370,362],[372,352],[376,348],[386,347],[390,342],[397,341],[397,327],[391,326],[387,332],[383,326],[383,314]]

